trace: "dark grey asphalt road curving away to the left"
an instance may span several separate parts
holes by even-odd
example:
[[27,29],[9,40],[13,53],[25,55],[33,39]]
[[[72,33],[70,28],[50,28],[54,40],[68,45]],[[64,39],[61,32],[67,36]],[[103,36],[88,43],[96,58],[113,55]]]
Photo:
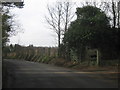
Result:
[[4,60],[3,63],[7,65],[8,71],[7,83],[3,88],[118,87],[117,80],[96,78],[101,77],[97,73],[20,60]]

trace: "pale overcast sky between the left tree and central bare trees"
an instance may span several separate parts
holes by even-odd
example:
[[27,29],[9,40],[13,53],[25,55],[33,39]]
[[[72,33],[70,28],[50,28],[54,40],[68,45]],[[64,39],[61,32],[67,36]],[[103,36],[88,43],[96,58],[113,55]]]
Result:
[[15,14],[15,21],[20,24],[23,32],[10,37],[10,44],[57,46],[56,34],[48,29],[44,18],[47,13],[47,3],[52,4],[55,1],[56,0],[24,0],[24,8],[11,9],[11,13]]

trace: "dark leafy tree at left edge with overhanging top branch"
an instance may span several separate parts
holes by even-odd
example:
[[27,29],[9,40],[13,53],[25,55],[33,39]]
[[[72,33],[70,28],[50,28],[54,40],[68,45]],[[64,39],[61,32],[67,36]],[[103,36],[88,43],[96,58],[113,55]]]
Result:
[[24,6],[23,2],[21,3],[2,3],[2,48],[3,48],[3,58],[6,56],[6,53],[9,49],[6,47],[9,37],[16,33],[16,30],[13,29],[13,16],[9,14],[10,7],[22,8]]

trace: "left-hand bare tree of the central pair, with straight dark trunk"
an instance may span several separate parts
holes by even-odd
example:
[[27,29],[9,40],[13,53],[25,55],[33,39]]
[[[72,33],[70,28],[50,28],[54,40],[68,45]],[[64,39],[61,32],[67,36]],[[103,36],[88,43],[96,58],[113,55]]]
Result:
[[[60,47],[60,39],[61,39],[61,20],[62,20],[62,3],[56,2],[55,6],[47,5],[48,14],[49,16],[46,16],[46,21],[50,25],[51,29],[55,31],[55,33],[58,36],[58,48]],[[60,55],[60,52],[58,50],[58,56]]]

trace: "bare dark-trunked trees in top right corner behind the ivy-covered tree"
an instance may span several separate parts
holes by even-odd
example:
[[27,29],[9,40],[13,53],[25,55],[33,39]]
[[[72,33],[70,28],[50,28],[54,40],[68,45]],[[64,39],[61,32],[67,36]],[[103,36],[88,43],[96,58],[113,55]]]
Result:
[[109,13],[109,17],[111,17],[111,26],[113,28],[119,28],[120,26],[120,1],[118,0],[110,0],[109,2],[104,2],[105,4],[102,6],[103,11],[106,12],[106,14]]

